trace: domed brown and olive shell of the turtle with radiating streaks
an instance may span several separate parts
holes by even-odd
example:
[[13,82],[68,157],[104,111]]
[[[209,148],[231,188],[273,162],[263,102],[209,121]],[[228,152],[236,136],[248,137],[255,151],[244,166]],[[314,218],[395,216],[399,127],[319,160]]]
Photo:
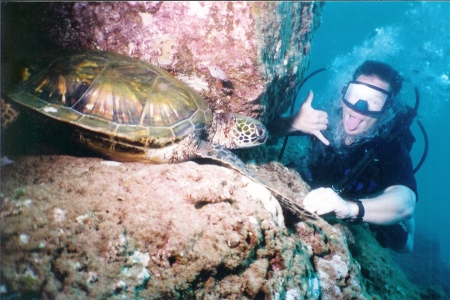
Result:
[[208,104],[193,89],[127,56],[72,53],[31,72],[8,98],[73,125],[93,148],[163,148],[212,121]]

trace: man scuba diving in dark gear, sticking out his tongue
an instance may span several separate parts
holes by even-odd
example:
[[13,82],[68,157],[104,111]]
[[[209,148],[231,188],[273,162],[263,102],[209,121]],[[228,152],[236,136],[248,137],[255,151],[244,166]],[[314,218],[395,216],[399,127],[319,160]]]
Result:
[[411,140],[410,123],[395,134],[405,123],[396,97],[402,81],[391,66],[366,61],[342,89],[336,112],[314,109],[310,91],[299,111],[274,120],[269,132],[311,136],[307,155],[288,165],[312,188],[303,200],[306,210],[366,222],[381,246],[411,252],[417,184],[412,143],[404,142]]

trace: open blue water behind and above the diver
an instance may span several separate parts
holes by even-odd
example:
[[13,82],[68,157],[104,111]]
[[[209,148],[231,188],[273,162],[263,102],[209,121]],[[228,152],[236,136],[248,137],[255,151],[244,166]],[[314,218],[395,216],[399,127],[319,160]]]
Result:
[[[438,241],[440,252],[435,255],[440,255],[438,259],[447,267],[450,266],[449,13],[450,2],[326,2],[322,25],[314,37],[309,72],[321,67],[332,70],[311,78],[297,99],[299,105],[307,90],[312,89],[317,95],[313,105],[320,108],[325,105],[323,99],[329,99],[329,93],[335,93],[366,59],[391,64],[418,86],[419,120],[428,133],[430,148],[424,165],[416,173],[419,191],[416,232]],[[413,85],[405,84],[404,90],[403,98],[413,105]],[[412,128],[417,138],[412,158],[417,163],[424,143],[418,126]],[[416,251],[424,250],[422,247]],[[450,282],[449,278],[441,280]]]

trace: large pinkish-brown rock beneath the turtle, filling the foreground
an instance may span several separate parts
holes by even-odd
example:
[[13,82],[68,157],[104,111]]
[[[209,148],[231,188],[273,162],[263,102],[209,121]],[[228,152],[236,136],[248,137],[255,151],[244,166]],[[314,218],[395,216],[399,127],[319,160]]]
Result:
[[[14,161],[1,174],[2,296],[418,299],[366,228],[284,219],[263,186],[233,170]],[[250,167],[296,201],[308,192],[279,163]]]

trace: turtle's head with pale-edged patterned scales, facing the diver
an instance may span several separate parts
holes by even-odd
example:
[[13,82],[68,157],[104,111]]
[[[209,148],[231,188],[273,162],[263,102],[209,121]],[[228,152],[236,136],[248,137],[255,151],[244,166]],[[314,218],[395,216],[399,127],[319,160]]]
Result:
[[232,113],[215,114],[208,130],[208,141],[228,149],[261,145],[267,136],[267,129],[260,121]]

